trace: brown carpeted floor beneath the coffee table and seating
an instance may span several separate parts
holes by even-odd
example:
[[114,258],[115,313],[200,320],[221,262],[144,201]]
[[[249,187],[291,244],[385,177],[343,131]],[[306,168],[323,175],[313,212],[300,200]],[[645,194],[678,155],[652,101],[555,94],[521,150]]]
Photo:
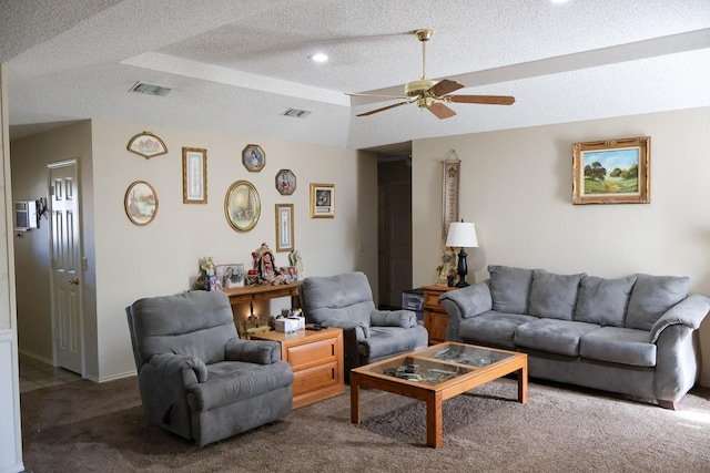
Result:
[[710,472],[710,390],[681,411],[503,379],[445,401],[444,445],[424,446],[423,402],[361,391],[196,449],[148,424],[136,379],[79,381],[22,394],[27,472]]

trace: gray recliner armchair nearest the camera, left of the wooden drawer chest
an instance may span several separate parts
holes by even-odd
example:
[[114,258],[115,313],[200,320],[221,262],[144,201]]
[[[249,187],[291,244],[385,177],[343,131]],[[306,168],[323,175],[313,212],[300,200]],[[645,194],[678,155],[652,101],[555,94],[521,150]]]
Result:
[[293,370],[280,345],[241,340],[224,292],[145,298],[125,310],[150,422],[204,446],[291,412]]

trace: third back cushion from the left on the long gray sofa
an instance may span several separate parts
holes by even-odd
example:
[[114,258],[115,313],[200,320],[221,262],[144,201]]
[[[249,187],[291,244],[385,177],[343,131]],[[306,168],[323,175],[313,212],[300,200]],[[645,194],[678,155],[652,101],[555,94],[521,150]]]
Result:
[[636,276],[619,279],[585,276],[581,278],[575,320],[600,326],[623,327],[635,282]]

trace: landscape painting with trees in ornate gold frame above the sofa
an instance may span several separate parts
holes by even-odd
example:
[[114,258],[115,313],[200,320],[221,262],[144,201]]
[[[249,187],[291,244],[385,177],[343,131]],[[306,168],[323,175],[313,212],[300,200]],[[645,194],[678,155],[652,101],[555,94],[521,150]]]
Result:
[[651,202],[650,136],[575,143],[572,204]]

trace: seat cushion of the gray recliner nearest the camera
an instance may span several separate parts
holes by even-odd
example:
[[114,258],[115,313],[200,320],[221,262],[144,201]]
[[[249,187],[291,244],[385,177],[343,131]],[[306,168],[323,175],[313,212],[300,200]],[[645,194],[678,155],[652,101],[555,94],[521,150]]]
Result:
[[194,411],[204,412],[292,383],[293,369],[285,361],[272,364],[224,361],[207,364],[207,380],[187,387],[187,402]]

